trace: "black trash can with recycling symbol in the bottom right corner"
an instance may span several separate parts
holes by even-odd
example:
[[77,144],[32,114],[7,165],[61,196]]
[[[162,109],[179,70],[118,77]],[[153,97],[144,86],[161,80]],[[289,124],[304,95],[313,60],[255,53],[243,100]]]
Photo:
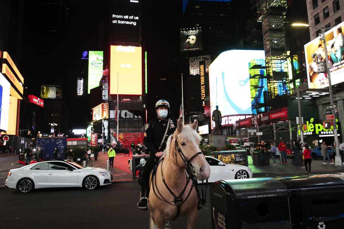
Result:
[[344,228],[344,174],[277,180],[288,190],[292,228]]

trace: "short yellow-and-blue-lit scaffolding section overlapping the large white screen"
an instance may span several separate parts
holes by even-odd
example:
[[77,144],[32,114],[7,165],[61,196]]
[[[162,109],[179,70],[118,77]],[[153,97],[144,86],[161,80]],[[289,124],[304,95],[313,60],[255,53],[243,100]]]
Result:
[[252,114],[269,111],[268,83],[264,59],[254,59],[248,64],[250,74]]

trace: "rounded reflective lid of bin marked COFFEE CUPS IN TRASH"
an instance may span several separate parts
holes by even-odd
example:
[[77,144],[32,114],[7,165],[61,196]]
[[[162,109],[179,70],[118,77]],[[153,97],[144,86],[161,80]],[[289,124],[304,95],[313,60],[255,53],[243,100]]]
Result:
[[287,188],[275,178],[251,178],[226,181],[233,189],[235,199],[254,199],[287,196]]

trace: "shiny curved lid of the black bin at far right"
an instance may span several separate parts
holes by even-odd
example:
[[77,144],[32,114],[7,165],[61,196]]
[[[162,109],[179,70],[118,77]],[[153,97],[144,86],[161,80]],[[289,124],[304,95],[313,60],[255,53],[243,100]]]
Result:
[[344,191],[344,174],[312,174],[286,177],[300,188],[300,194],[306,192]]

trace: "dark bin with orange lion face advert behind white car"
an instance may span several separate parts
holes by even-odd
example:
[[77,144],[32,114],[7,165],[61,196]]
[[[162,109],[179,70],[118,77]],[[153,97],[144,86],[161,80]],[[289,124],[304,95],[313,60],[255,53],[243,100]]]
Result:
[[214,151],[211,153],[212,157],[225,164],[241,164],[248,166],[246,150]]

